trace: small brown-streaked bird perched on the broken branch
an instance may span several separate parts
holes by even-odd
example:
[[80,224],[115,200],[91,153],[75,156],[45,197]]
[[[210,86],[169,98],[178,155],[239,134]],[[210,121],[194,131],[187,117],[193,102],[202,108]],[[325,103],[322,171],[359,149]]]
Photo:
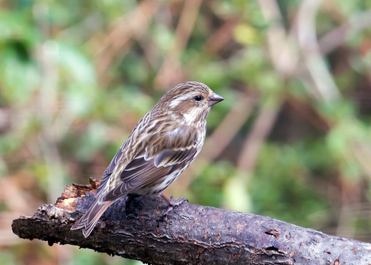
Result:
[[[206,117],[211,106],[224,100],[207,85],[188,81],[170,89],[139,120],[104,171],[95,201],[71,230],[81,229],[87,238],[99,218],[115,201],[129,194],[159,195],[173,207],[174,200],[162,191],[173,183],[200,153],[206,136]],[[187,200],[188,201],[188,200]]]

